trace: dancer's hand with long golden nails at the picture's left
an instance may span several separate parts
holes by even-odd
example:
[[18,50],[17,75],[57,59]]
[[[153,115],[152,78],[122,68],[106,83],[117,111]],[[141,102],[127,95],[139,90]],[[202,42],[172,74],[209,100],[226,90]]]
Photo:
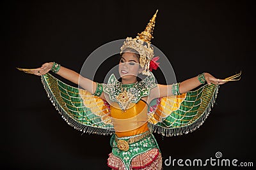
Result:
[[19,69],[20,71],[24,71],[25,73],[30,73],[30,74],[35,74],[36,76],[42,76],[49,71],[51,71],[51,68],[53,66],[53,62],[46,62],[43,64],[41,67],[36,68],[36,69]]

